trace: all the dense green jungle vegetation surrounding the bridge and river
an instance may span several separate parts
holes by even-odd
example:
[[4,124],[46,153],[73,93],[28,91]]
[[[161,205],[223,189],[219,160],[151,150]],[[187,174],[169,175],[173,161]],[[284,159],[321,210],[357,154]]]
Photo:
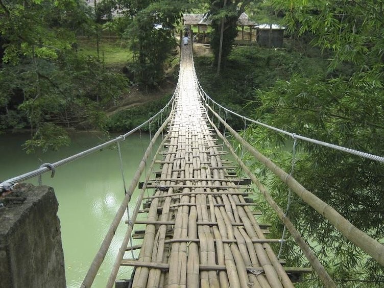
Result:
[[[174,31],[178,35],[182,29],[182,13],[209,11],[212,54],[197,54],[195,63],[202,86],[215,100],[289,132],[384,155],[381,2],[228,0],[225,7],[223,0],[89,2],[0,0],[0,131],[28,129],[27,151],[69,145],[68,128],[127,131],[153,115],[172,92],[146,105],[117,108],[138,97],[135,91],[159,94],[164,83],[176,83]],[[234,47],[235,23],[244,11],[256,22],[284,25],[282,49],[257,43]],[[160,23],[162,29],[155,29]],[[114,38],[106,40],[110,35]],[[228,122],[244,125],[233,117]],[[292,139],[256,126],[243,135],[285,171],[294,163],[293,175],[303,186],[383,243],[382,163],[303,141],[297,142],[293,159]],[[383,285],[383,267],[301,199],[292,195],[287,203],[290,191],[243,156],[279,206],[289,206],[287,214],[339,286]],[[273,224],[271,237],[281,237],[283,227],[267,204],[257,208]],[[290,235],[282,256],[287,266],[308,265]],[[312,275],[299,286],[322,284]]]

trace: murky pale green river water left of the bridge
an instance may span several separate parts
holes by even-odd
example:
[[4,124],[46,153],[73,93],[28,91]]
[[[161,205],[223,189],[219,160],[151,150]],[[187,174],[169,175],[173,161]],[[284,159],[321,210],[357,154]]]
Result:
[[[42,163],[56,162],[101,143],[96,134],[76,133],[72,135],[70,147],[63,148],[59,152],[27,155],[21,148],[27,137],[26,134],[0,136],[0,157],[3,163],[0,166],[0,180],[35,170]],[[134,134],[121,144],[127,187],[148,143],[147,134]],[[60,166],[53,179],[50,178],[50,174],[45,174],[42,181],[43,185],[54,187],[59,202],[58,215],[61,222],[67,287],[79,287],[124,198],[117,149],[106,148]],[[27,182],[37,184],[37,179]],[[130,202],[131,212],[136,204],[137,191],[136,189]],[[122,222],[126,219],[125,215]],[[105,287],[126,231],[126,224],[121,224],[92,287]],[[135,229],[142,228],[135,225]],[[134,241],[134,244],[139,243],[140,240]],[[131,258],[132,255],[126,253],[126,257]],[[119,270],[117,279],[129,278],[130,273],[131,268],[123,267]]]

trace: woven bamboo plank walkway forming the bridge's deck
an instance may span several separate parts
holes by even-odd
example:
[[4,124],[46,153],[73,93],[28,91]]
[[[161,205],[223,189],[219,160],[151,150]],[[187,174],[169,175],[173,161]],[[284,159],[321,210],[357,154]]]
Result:
[[[215,141],[199,101],[190,47],[182,47],[178,98],[166,135],[163,157],[148,187],[148,220],[132,287],[293,287],[266,239],[247,191],[227,171],[225,152]],[[248,192],[249,193],[249,192]],[[149,207],[148,207],[149,206]],[[128,253],[127,253],[128,255]]]

